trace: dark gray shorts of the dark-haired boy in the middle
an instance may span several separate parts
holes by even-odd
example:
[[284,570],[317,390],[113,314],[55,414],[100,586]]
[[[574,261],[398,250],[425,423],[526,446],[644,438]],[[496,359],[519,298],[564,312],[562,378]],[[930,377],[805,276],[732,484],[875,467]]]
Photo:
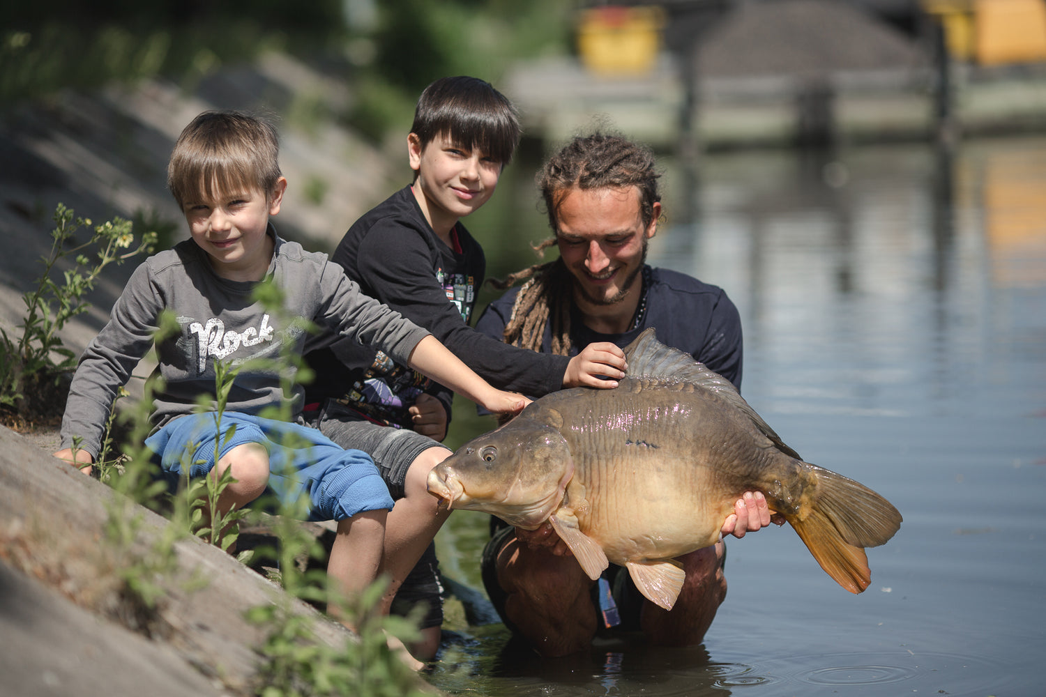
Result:
[[[305,423],[343,448],[355,448],[369,455],[388,486],[393,499],[404,496],[404,483],[410,463],[430,447],[444,447],[442,443],[407,428],[395,428],[368,421],[359,412],[327,399],[320,411],[302,415]],[[439,579],[439,560],[436,545],[429,543],[422,558],[410,572],[395,598],[392,613],[406,615],[413,608],[424,608],[419,628],[438,627],[444,623],[444,584]]]

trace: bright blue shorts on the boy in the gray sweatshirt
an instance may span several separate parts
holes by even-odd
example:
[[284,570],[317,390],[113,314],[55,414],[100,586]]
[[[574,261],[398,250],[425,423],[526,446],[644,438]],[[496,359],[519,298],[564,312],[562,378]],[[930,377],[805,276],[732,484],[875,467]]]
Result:
[[342,520],[392,508],[388,487],[366,452],[342,448],[297,423],[226,412],[218,425],[215,416],[180,416],[145,440],[165,477],[177,480],[185,468],[189,478],[204,477],[235,446],[258,443],[269,451],[269,490],[286,515]]

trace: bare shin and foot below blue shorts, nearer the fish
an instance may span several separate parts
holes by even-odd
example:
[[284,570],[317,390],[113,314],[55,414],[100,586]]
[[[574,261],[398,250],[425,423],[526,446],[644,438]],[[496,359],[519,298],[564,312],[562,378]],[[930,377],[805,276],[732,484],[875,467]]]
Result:
[[[378,579],[387,517],[388,511],[385,510],[363,511],[338,521],[337,535],[327,561],[327,576],[338,583],[339,590],[349,603]],[[388,610],[382,607],[374,609],[383,613]],[[358,628],[347,618],[341,617],[338,607],[328,607],[327,611],[346,627],[357,631]],[[389,649],[411,669],[425,668],[425,664],[411,656],[399,638],[387,635],[386,641]]]

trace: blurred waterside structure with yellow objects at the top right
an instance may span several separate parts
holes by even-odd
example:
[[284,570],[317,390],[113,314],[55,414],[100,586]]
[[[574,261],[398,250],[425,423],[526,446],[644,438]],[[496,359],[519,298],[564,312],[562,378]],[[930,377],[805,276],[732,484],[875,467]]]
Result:
[[592,4],[577,57],[521,66],[531,125],[612,111],[649,140],[826,145],[1042,129],[1042,0]]

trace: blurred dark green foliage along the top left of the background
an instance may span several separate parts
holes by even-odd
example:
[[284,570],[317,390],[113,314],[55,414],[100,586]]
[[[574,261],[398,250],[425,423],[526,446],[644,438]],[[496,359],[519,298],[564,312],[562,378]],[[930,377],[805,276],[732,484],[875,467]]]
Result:
[[418,93],[436,77],[497,85],[513,61],[562,52],[573,10],[559,0],[8,4],[0,104],[158,75],[190,89],[223,64],[283,50],[346,79],[354,99],[344,119],[376,140],[409,127]]

